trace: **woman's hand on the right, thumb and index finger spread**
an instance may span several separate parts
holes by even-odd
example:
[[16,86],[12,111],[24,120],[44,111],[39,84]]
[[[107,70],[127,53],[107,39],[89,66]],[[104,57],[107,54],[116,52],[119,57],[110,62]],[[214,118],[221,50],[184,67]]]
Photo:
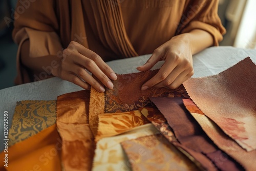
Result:
[[143,66],[137,69],[150,70],[161,60],[164,60],[164,64],[153,78],[143,84],[142,91],[151,87],[176,89],[194,74],[192,49],[186,33],[165,42],[154,51]]

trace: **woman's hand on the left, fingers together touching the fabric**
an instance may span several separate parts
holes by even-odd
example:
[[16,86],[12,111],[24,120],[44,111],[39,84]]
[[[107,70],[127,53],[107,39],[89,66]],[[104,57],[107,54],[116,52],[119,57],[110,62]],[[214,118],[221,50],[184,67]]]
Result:
[[92,86],[99,92],[104,92],[104,87],[96,81],[90,74],[91,72],[101,81],[105,87],[113,89],[110,80],[116,80],[114,71],[106,65],[99,55],[83,47],[76,41],[71,41],[68,48],[63,50],[60,65],[53,70],[54,76],[63,80],[68,80],[83,89],[90,89]]

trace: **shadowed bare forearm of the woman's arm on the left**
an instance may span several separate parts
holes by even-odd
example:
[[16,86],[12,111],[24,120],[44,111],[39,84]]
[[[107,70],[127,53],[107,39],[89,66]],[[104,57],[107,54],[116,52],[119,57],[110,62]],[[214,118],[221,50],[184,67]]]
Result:
[[30,42],[28,39],[23,43],[20,51],[20,60],[24,66],[37,72],[46,71],[46,69],[48,69],[48,74],[52,74],[52,69],[56,69],[59,66],[61,58],[57,57],[57,54],[56,56],[30,57],[29,47]]

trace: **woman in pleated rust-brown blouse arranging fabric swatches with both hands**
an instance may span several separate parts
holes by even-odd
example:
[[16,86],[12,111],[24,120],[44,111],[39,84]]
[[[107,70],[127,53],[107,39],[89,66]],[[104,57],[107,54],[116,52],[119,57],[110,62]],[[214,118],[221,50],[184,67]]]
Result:
[[[57,76],[104,92],[103,85],[112,89],[117,79],[105,61],[153,53],[139,71],[165,62],[141,90],[175,89],[193,75],[192,55],[218,46],[225,33],[218,0],[27,0],[25,5],[17,4],[13,31],[17,84]],[[18,11],[20,6],[25,10]]]

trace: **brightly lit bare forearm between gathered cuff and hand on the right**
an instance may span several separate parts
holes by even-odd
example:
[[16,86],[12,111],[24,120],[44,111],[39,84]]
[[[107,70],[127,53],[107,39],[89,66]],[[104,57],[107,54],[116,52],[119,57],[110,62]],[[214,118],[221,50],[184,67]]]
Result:
[[214,38],[204,30],[192,30],[189,33],[183,33],[175,37],[182,37],[190,46],[193,55],[214,45]]

